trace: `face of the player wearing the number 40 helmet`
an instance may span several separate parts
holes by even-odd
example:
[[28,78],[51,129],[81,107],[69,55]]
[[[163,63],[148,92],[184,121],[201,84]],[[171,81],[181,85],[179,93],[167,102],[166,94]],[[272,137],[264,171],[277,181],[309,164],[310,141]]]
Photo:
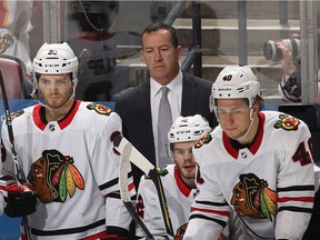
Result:
[[242,99],[219,99],[217,113],[226,134],[237,140],[246,134],[250,126],[250,109]]

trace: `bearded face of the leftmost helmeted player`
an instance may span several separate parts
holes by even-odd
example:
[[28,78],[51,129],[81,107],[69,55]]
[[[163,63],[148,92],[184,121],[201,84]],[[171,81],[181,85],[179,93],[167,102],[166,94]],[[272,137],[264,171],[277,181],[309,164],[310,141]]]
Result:
[[41,74],[38,88],[46,104],[59,109],[69,101],[73,92],[70,74]]

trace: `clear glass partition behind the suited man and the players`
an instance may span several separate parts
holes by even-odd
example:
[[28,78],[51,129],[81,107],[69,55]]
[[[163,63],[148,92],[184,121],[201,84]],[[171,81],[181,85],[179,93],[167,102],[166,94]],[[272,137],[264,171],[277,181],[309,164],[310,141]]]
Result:
[[[67,41],[78,57],[83,53],[77,97],[110,101],[148,80],[140,57],[141,32],[151,22],[164,21],[178,30],[183,70],[214,81],[226,64],[248,64],[261,81],[266,102],[283,103],[291,101],[283,100],[278,90],[286,72],[278,60],[270,59],[277,50],[272,43],[292,40],[296,33],[300,38],[293,40],[296,63],[301,66],[302,61],[300,102],[313,103],[318,88],[318,1],[274,0],[3,1],[2,53],[22,58],[30,71],[26,52],[32,59],[43,42]],[[16,41],[22,50],[9,52]],[[303,67],[303,61],[308,66]]]

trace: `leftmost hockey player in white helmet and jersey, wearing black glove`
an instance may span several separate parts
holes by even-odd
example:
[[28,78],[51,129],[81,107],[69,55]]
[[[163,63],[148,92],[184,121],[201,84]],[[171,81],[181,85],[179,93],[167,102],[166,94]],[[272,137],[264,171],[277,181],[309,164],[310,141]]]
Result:
[[[12,127],[19,168],[37,204],[11,184],[0,207],[10,217],[28,216],[32,239],[126,237],[131,217],[120,200],[112,144],[121,119],[102,104],[74,99],[78,58],[68,43],[44,43],[32,67],[32,97],[39,103],[16,112]],[[2,142],[1,173],[12,179],[7,126]],[[129,188],[134,194],[133,183]]]

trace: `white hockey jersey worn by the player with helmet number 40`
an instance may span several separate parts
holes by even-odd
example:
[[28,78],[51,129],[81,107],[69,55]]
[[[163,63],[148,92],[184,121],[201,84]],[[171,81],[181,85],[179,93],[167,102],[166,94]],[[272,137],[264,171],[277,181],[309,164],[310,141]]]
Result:
[[183,240],[214,239],[234,209],[244,239],[302,239],[311,217],[314,173],[306,123],[259,113],[254,142],[239,146],[217,127],[196,143],[200,190]]

